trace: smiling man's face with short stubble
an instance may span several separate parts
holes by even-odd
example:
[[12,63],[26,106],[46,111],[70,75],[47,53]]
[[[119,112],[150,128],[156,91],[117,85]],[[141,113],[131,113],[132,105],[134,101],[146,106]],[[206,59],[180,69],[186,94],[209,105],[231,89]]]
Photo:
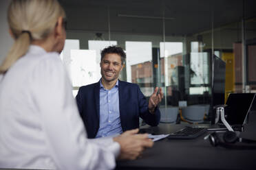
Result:
[[112,82],[118,79],[122,71],[121,56],[117,53],[107,53],[100,62],[101,75],[106,82]]

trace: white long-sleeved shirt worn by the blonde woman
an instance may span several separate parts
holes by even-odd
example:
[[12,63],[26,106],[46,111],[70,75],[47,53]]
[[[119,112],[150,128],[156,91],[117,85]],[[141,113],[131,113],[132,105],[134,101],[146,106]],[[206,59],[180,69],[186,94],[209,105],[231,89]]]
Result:
[[0,168],[114,169],[119,151],[87,139],[58,53],[30,45],[0,76]]

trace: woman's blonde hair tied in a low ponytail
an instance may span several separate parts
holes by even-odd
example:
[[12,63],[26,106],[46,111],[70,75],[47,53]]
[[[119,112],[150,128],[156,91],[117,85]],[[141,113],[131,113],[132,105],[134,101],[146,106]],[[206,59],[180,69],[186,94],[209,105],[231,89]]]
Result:
[[47,38],[60,16],[65,18],[65,12],[57,0],[13,0],[8,8],[8,24],[15,41],[0,73],[6,73],[25,55],[32,40]]

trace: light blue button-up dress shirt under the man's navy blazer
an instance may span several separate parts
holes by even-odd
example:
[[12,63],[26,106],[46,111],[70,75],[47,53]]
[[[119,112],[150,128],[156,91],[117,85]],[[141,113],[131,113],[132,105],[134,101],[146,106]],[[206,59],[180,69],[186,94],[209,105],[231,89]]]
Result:
[[100,127],[96,138],[114,136],[121,133],[118,81],[113,88],[107,90],[100,80]]

